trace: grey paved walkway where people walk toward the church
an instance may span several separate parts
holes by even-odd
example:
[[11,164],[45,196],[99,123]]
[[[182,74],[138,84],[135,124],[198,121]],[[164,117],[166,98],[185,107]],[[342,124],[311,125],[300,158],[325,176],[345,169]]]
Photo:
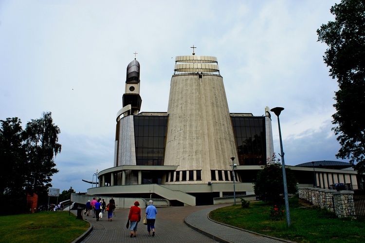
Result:
[[[147,226],[139,223],[137,237],[130,238],[126,228],[129,209],[116,209],[113,221],[108,221],[106,213],[98,222],[92,216],[84,216],[91,223],[90,229],[75,242],[158,242],[158,243],[279,243],[285,242],[258,235],[224,224],[211,221],[210,211],[227,205],[157,207],[155,237],[148,237]],[[141,210],[142,215],[145,209]]]

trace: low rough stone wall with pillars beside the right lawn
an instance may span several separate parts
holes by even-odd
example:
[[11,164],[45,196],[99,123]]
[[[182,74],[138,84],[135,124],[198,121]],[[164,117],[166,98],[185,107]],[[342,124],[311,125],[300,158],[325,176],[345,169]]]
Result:
[[336,191],[321,188],[298,188],[299,198],[322,209],[334,212],[339,218],[355,218],[353,191]]

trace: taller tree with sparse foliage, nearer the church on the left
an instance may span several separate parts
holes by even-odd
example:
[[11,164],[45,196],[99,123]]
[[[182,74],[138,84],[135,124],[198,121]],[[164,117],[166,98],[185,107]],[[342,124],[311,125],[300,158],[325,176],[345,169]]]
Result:
[[57,143],[59,133],[51,112],[43,112],[43,117],[27,123],[24,130],[29,168],[26,173],[27,192],[45,195],[48,188],[52,187],[51,176],[58,172],[54,156],[61,152],[61,145]]

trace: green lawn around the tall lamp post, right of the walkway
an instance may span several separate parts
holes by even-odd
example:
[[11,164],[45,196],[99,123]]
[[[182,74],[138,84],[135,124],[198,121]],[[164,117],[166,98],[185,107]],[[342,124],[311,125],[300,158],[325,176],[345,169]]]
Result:
[[272,207],[264,202],[251,202],[249,208],[227,206],[212,211],[215,221],[293,242],[365,242],[363,220],[339,219],[334,213],[299,204],[290,199],[291,226],[284,220],[271,221]]

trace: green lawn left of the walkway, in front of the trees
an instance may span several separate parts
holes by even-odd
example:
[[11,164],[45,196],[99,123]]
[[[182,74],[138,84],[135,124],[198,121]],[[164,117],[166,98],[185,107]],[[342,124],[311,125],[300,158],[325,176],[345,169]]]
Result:
[[89,227],[66,211],[0,216],[0,242],[73,242]]

